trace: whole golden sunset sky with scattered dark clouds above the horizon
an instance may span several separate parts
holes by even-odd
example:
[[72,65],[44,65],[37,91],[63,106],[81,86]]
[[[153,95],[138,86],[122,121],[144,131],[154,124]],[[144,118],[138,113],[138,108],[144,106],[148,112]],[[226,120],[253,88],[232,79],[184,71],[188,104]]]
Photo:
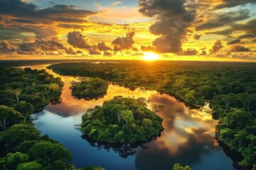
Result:
[[0,60],[256,62],[255,11],[255,0],[0,0]]

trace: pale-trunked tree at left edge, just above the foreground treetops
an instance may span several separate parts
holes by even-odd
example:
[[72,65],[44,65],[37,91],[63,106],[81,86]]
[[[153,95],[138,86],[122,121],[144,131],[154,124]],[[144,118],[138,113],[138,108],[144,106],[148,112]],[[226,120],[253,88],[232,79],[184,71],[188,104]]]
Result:
[[0,106],[0,127],[1,130],[6,130],[6,128],[11,127],[12,125],[21,123],[25,120],[21,113],[10,108],[8,106]]

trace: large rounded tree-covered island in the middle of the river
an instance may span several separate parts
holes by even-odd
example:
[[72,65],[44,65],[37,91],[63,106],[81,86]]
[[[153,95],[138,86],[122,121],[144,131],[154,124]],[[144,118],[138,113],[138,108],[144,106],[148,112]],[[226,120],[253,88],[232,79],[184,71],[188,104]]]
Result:
[[162,119],[144,101],[120,98],[105,101],[82,115],[82,132],[92,140],[135,143],[159,135]]

